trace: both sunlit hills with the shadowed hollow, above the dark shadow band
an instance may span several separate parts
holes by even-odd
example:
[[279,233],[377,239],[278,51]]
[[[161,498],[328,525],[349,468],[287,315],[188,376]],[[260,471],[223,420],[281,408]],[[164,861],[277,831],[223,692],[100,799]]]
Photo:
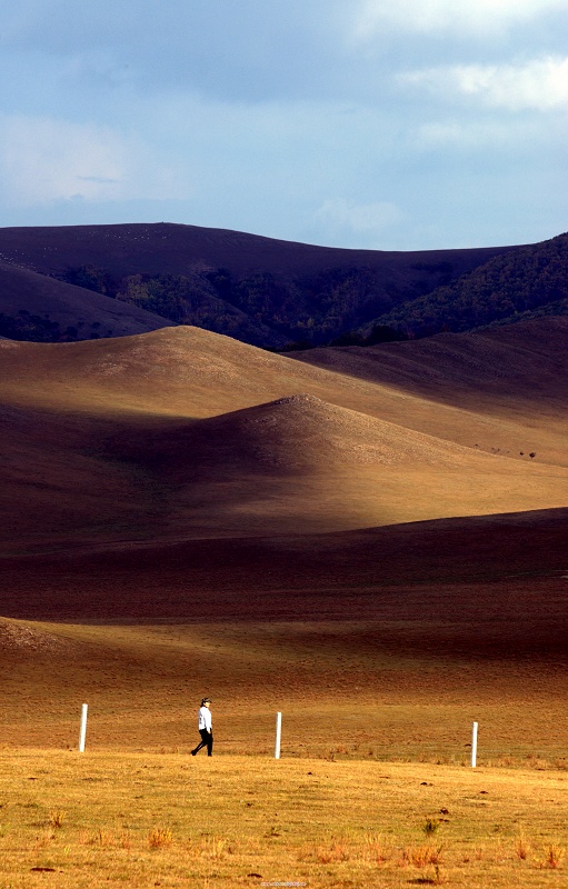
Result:
[[[519,351],[510,330],[501,351]],[[196,328],[2,341],[2,547],[319,532],[565,506],[564,353],[540,349],[529,360],[525,338],[526,371],[519,361],[495,373],[470,338],[480,370],[459,403],[456,339],[447,356],[438,343],[436,369],[422,343],[403,343],[415,377],[398,382],[396,367],[377,382]],[[547,399],[551,374],[559,384]],[[436,387],[425,396],[417,381],[428,377]]]

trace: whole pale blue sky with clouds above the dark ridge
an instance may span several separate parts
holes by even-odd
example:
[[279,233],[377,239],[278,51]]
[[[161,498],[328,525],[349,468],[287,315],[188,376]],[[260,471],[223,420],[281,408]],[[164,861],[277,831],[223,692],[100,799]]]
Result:
[[568,229],[568,0],[0,0],[0,226]]

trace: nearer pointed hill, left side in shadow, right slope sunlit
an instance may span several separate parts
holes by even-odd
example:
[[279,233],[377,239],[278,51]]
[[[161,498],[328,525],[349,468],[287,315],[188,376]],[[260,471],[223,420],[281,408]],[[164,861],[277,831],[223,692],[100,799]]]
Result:
[[169,429],[111,452],[168,489],[167,537],[317,532],[564,506],[568,470],[480,453],[291,396]]

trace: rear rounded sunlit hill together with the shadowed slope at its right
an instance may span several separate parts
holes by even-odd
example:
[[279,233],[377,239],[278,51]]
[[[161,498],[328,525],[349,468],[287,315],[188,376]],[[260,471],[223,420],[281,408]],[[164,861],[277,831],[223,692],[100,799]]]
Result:
[[[564,320],[499,329],[492,334],[499,359],[469,334],[396,343],[400,351],[313,350],[303,360],[189,327],[67,344],[0,341],[2,400],[57,412],[211,417],[309,392],[466,447],[510,457],[536,451],[538,461],[566,465]],[[517,328],[519,340],[508,346]]]

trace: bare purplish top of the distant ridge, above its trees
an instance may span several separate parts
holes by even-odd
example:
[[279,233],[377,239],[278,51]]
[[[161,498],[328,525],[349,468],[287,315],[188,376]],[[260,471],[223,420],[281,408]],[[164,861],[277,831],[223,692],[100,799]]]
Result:
[[[227,229],[166,222],[119,226],[58,226],[0,228],[0,259],[42,274],[66,268],[93,266],[114,278],[141,274],[183,274],[201,263],[228,269],[241,277],[266,270],[271,274],[303,276],[325,269],[357,267],[389,271],[400,280],[412,274],[412,264],[455,263],[458,273],[475,268],[510,247],[465,250],[381,251],[280,241]],[[454,269],[452,269],[454,270]],[[440,269],[413,269],[422,274]],[[441,271],[448,271],[442,269]],[[416,277],[416,276],[415,276]]]

